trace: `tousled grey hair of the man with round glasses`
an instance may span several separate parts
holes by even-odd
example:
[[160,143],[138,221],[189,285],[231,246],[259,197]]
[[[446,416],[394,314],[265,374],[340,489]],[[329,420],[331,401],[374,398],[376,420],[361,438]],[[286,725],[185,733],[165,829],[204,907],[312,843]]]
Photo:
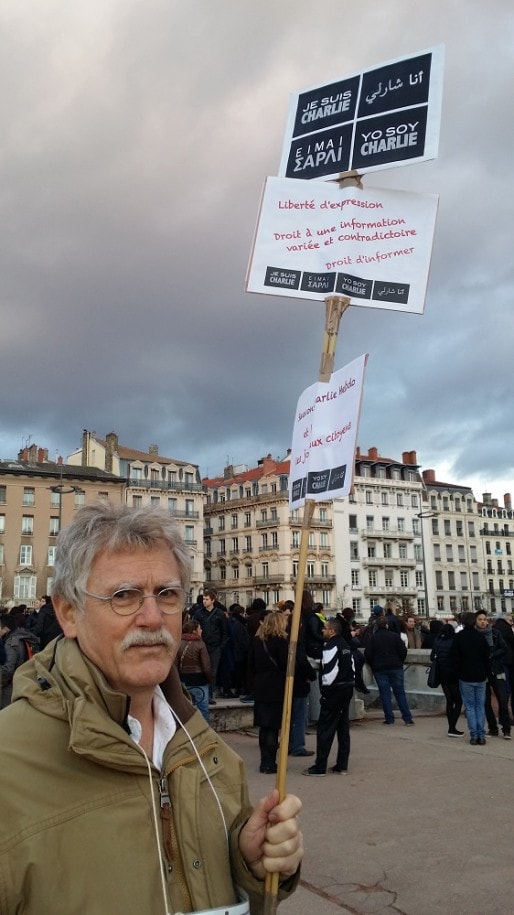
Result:
[[175,557],[181,587],[188,591],[189,550],[177,523],[164,509],[132,508],[106,499],[85,505],[57,538],[52,594],[83,609],[91,566],[102,550],[119,553],[163,545]]

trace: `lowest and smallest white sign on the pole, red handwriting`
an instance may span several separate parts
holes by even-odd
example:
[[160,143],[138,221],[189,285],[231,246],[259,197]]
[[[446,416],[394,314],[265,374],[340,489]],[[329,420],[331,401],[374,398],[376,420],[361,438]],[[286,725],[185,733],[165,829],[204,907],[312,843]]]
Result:
[[289,471],[289,507],[325,502],[350,492],[368,356],[318,381],[298,400]]

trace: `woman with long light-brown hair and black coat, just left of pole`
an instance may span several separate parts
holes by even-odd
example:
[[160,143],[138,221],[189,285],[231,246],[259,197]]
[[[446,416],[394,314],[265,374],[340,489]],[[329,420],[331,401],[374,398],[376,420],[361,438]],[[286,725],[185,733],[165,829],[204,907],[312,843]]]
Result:
[[264,617],[252,643],[253,723],[259,728],[260,772],[277,771],[278,735],[286,682],[288,639],[280,610]]

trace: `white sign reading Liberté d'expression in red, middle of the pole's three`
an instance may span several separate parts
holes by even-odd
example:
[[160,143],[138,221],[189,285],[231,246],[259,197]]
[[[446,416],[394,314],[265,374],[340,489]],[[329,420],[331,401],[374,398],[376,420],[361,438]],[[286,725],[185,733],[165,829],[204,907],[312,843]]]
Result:
[[438,200],[267,178],[246,289],[421,314]]

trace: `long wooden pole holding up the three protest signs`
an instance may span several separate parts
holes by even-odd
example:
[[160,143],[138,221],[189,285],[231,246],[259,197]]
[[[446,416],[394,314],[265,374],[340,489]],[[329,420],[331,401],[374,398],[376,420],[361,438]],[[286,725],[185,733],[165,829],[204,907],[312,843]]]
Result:
[[[334,356],[339,333],[341,317],[350,305],[347,296],[329,296],[325,299],[325,335],[321,353],[319,381],[330,381],[334,370]],[[300,629],[302,609],[302,595],[305,585],[305,571],[307,567],[307,552],[309,548],[309,532],[314,515],[314,499],[306,499],[303,508],[302,536],[300,540],[300,556],[298,559],[298,575],[296,578],[296,593],[293,616],[291,620],[291,634],[289,638],[289,652],[287,657],[286,683],[284,690],[284,705],[282,708],[282,724],[280,728],[280,749],[278,754],[276,787],[280,800],[286,794],[287,755],[289,748],[289,731],[291,728],[291,708],[293,704],[294,671],[296,666],[296,646]],[[264,883],[264,908],[263,915],[275,915],[278,905],[278,874],[266,874]]]

